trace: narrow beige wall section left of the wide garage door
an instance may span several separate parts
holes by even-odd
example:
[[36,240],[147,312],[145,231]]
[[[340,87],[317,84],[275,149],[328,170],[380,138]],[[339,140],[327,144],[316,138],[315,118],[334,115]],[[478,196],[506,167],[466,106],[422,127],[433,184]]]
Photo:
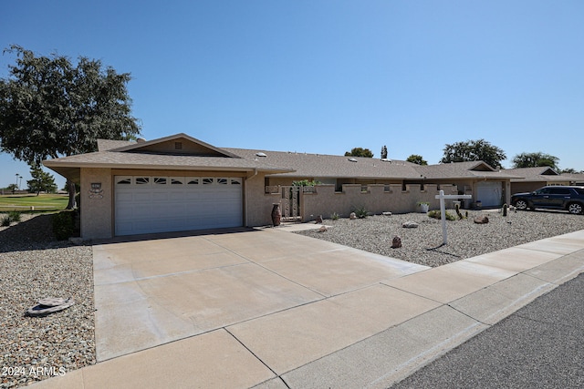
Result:
[[[91,192],[91,183],[93,182],[101,183],[101,194]],[[80,190],[81,238],[111,238],[113,236],[111,169],[82,168]]]

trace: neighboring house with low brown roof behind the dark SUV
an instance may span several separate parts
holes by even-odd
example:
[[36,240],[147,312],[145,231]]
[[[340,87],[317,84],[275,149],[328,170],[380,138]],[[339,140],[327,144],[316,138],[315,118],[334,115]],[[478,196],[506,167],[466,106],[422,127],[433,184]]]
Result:
[[516,176],[511,179],[511,194],[531,192],[547,185],[570,185],[568,177],[559,175],[548,166],[537,168],[506,169],[508,174]]

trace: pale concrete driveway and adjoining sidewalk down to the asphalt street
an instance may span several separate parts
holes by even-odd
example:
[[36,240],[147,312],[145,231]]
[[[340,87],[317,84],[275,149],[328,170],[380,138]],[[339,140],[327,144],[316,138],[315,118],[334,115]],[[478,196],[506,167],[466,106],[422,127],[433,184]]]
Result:
[[[282,241],[302,250],[274,246]],[[151,255],[161,250],[162,241],[142,243]],[[164,261],[140,264],[112,254],[140,245],[95,248],[103,362],[36,387],[388,387],[584,271],[584,230],[434,269],[276,229],[167,243],[208,252],[195,269],[179,259],[172,273],[161,274],[169,264],[163,250]],[[210,265],[211,254],[226,262]],[[214,282],[204,284],[211,275]],[[202,282],[203,289],[193,286]],[[216,288],[227,284],[235,289]],[[99,300],[129,290],[142,294],[118,305]],[[165,291],[165,302],[176,293],[196,297],[157,306],[162,300],[151,296]],[[226,305],[193,321],[208,303]],[[151,314],[117,317],[134,305],[131,312]],[[168,331],[132,327],[136,322]],[[111,337],[124,332],[130,341]]]

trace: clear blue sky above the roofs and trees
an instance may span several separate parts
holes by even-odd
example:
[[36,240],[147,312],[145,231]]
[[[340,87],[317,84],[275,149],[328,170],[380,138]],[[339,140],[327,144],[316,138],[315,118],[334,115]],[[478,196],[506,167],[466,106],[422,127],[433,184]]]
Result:
[[[584,2],[3,2],[0,44],[129,72],[144,138],[379,158],[485,138],[584,169]],[[14,56],[0,56],[0,77]],[[29,179],[0,155],[0,187]],[[57,178],[57,175],[56,175]],[[64,179],[58,177],[59,187]],[[24,180],[23,180],[24,186]]]

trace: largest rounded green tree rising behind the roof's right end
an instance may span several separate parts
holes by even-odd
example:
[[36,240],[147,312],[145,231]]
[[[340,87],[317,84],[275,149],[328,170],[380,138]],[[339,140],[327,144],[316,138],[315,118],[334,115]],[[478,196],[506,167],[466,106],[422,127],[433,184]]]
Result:
[[485,139],[447,144],[443,151],[444,156],[440,160],[441,163],[482,160],[496,168],[503,159],[506,159],[506,154],[501,148],[491,145]]

